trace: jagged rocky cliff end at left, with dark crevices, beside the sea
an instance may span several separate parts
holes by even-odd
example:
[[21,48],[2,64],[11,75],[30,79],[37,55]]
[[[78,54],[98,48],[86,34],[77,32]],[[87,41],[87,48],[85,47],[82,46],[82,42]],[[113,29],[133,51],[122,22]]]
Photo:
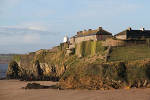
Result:
[[[25,80],[58,80],[65,71],[64,61],[58,60],[63,54],[64,52],[56,47],[55,50],[39,50],[26,55],[17,55],[9,64],[7,77]],[[15,69],[17,71],[14,71]]]

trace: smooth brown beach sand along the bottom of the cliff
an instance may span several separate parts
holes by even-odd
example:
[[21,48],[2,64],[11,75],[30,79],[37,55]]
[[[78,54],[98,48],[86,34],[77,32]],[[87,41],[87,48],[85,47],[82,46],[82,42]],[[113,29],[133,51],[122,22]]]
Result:
[[[0,80],[0,100],[150,100],[150,89],[130,90],[57,90],[22,87],[28,82]],[[37,82],[41,85],[54,85],[55,82]]]

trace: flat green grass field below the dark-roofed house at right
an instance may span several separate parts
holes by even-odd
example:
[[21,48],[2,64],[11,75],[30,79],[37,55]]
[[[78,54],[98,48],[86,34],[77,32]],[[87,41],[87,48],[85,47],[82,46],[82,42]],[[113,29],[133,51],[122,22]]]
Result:
[[150,48],[146,45],[114,47],[109,61],[130,61],[150,58]]

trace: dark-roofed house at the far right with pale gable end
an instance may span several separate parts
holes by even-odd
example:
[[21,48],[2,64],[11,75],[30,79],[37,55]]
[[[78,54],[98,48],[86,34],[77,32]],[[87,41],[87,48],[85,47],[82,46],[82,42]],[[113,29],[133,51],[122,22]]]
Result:
[[115,37],[121,40],[142,40],[150,38],[150,30],[145,30],[144,28],[141,30],[132,30],[132,28],[129,27],[127,30],[115,35]]

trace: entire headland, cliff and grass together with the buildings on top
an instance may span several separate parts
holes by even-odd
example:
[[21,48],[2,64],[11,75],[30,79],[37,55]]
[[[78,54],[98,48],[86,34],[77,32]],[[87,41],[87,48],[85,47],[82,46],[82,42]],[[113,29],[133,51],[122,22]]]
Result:
[[7,78],[59,81],[61,89],[150,87],[149,35],[143,28],[80,31],[52,49],[14,56]]

